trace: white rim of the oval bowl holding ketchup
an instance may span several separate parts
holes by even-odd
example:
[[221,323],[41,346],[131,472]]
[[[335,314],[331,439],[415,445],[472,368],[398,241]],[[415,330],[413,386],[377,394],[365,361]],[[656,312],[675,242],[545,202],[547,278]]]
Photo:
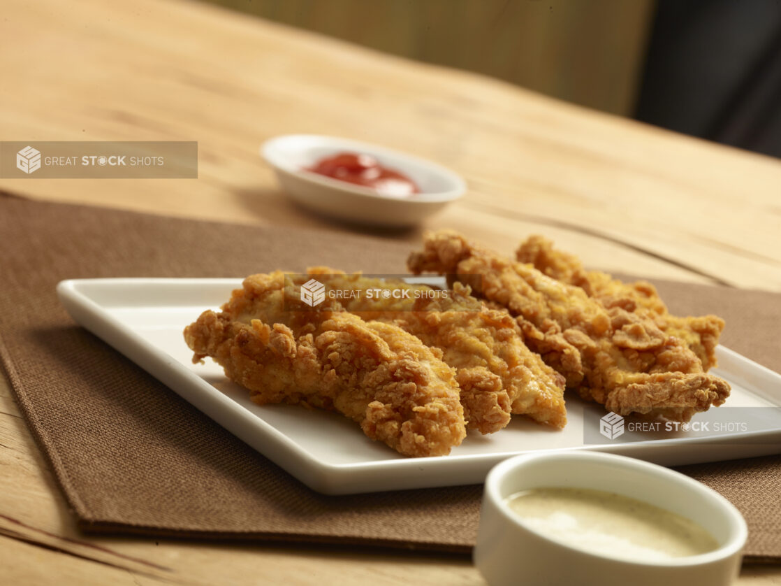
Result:
[[[449,183],[453,185],[448,191],[423,191],[419,194],[415,194],[412,197],[400,198],[395,195],[384,195],[377,191],[362,187],[355,184],[350,184],[347,181],[341,181],[334,179],[333,177],[326,177],[319,173],[312,173],[305,169],[300,169],[292,165],[286,165],[280,161],[275,154],[274,148],[281,142],[291,140],[310,140],[310,141],[331,141],[334,143],[334,151],[341,149],[351,149],[360,152],[366,152],[369,155],[391,156],[394,158],[402,159],[404,163],[412,163],[415,166],[426,167],[428,170],[437,173],[440,177],[444,177]],[[341,145],[341,146],[338,146]],[[369,198],[382,199],[387,201],[419,205],[433,202],[452,202],[456,199],[462,198],[466,193],[466,181],[452,171],[448,167],[442,166],[438,163],[433,163],[427,159],[422,159],[415,155],[410,155],[407,152],[397,151],[393,148],[383,147],[381,145],[375,145],[373,143],[364,141],[355,141],[351,138],[341,138],[335,136],[329,136],[326,134],[280,134],[279,136],[269,138],[260,145],[260,155],[272,166],[277,172],[284,172],[289,175],[293,175],[298,179],[308,181],[309,183],[319,184],[323,187],[337,189],[339,191],[346,191],[347,193],[355,195],[363,195]],[[402,165],[403,166],[403,165]],[[401,169],[403,171],[403,169]]]

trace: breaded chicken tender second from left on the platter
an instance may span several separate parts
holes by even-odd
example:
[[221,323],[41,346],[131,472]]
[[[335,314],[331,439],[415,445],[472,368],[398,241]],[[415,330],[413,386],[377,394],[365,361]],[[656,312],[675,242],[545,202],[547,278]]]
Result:
[[[455,368],[469,427],[483,434],[498,431],[511,413],[552,427],[565,426],[564,377],[526,348],[518,323],[506,309],[488,309],[460,283],[450,291],[436,291],[423,284],[389,284],[323,266],[309,269],[308,276],[331,290],[355,293],[339,301],[344,309],[365,320],[394,323],[439,348],[444,362]],[[300,286],[305,277],[297,278],[294,282]],[[406,295],[367,295],[386,288]],[[289,302],[295,298],[296,291]]]

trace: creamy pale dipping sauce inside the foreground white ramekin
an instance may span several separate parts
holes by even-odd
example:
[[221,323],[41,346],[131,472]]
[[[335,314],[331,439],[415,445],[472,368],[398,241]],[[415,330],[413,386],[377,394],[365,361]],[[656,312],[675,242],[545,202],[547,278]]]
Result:
[[601,556],[655,561],[719,547],[694,521],[612,492],[534,488],[506,502],[525,525],[546,537]]

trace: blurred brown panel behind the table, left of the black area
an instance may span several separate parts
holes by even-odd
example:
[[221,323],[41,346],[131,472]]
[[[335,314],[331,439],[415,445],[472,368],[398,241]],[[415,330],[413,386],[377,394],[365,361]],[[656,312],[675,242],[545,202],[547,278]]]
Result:
[[210,0],[567,102],[634,111],[651,0]]

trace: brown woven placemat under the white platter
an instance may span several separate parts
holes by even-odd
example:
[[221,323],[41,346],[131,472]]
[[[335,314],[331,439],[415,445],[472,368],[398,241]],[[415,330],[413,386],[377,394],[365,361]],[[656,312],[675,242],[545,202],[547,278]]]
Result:
[[[78,327],[55,296],[59,280],[79,277],[241,277],[312,264],[404,272],[408,245],[8,195],[0,241],[0,356],[84,531],[470,551],[480,486],[319,495]],[[659,288],[676,312],[725,316],[725,345],[781,371],[781,295]],[[683,470],[744,513],[747,555],[781,558],[781,457]]]

